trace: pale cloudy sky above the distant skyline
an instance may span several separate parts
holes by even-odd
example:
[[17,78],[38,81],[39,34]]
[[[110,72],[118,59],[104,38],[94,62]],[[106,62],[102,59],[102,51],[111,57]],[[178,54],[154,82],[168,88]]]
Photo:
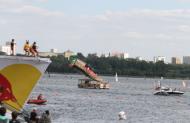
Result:
[[0,45],[130,57],[190,55],[190,0],[0,0]]

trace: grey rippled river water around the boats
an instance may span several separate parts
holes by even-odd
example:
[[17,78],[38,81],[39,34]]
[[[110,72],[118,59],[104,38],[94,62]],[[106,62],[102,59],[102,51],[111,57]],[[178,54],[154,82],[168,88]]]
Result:
[[[77,87],[82,75],[52,74],[44,77],[32,92],[42,93],[47,105],[36,107],[40,112],[50,110],[53,123],[189,123],[190,92],[182,80],[163,80],[162,85],[181,88],[182,96],[155,96],[153,87],[159,79],[102,77],[109,81],[109,90]],[[188,80],[186,80],[188,82]],[[125,111],[127,120],[119,121],[118,113]]]

